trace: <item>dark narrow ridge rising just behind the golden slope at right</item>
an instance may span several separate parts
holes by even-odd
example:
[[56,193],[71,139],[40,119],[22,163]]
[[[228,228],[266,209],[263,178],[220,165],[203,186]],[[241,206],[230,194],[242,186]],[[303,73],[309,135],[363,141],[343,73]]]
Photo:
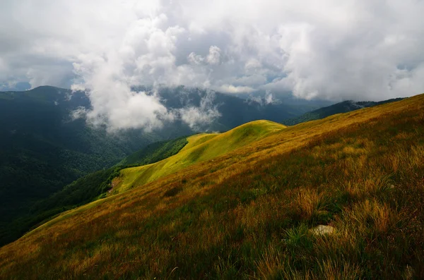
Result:
[[286,119],[282,121],[282,123],[284,123],[287,126],[294,126],[295,124],[304,123],[305,121],[319,120],[320,118],[326,118],[327,116],[331,116],[334,114],[347,113],[347,112],[355,111],[358,109],[363,109],[363,108],[377,106],[377,105],[386,104],[390,102],[400,101],[401,99],[403,98],[389,99],[389,100],[384,100],[380,102],[373,102],[373,101],[355,102],[352,100],[343,101],[340,103],[332,104],[330,106],[319,108],[314,111],[307,112],[303,114],[302,116],[298,116],[296,118]]

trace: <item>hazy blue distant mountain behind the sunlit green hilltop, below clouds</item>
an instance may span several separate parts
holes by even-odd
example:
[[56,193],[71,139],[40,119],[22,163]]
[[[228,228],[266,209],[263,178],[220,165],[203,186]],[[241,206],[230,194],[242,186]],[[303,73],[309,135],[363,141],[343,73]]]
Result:
[[[152,92],[151,87],[134,87],[134,90]],[[219,116],[210,123],[196,123],[194,131],[227,131],[249,121],[266,119],[281,122],[305,114],[307,111],[318,109],[321,101],[305,101],[283,103],[278,100],[267,102],[264,97],[242,99],[212,90],[202,90],[197,87],[159,87],[157,94],[169,110],[178,110],[190,107],[203,110],[216,109]],[[328,102],[326,103],[328,104]]]

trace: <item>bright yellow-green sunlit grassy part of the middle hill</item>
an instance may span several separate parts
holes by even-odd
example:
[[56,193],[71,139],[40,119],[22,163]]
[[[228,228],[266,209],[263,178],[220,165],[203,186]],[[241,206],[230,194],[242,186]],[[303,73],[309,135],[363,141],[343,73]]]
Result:
[[179,153],[155,164],[123,169],[114,182],[113,193],[122,193],[138,185],[154,181],[181,169],[208,159],[213,159],[232,150],[237,150],[285,126],[272,121],[252,121],[221,134],[193,135]]

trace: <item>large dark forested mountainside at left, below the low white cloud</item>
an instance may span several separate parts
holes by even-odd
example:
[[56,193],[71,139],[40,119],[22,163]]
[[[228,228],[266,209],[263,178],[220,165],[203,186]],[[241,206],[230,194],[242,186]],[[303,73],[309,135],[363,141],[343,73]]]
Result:
[[0,92],[0,243],[28,230],[11,222],[35,202],[163,139],[141,130],[117,137],[90,128],[70,116],[80,106],[90,106],[83,92],[56,87]]

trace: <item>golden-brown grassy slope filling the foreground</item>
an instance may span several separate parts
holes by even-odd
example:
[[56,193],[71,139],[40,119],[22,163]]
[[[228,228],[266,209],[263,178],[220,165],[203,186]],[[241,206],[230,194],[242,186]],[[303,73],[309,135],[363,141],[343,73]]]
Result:
[[40,226],[0,278],[423,278],[423,146],[424,95],[285,128]]

